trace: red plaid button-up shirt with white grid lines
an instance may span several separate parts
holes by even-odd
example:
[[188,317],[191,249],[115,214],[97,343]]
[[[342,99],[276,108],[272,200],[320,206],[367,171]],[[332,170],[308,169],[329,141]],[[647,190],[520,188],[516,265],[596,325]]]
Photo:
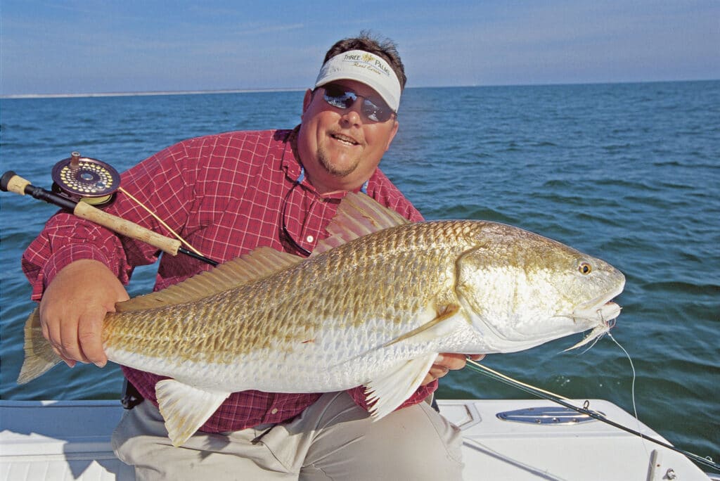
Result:
[[[323,238],[343,194],[320,196],[307,179],[292,189],[302,167],[294,155],[293,130],[228,132],[172,145],[122,174],[122,187],[163,219],[204,256],[228,261],[258,246],[297,253],[283,234],[312,251]],[[292,189],[292,192],[291,192]],[[381,171],[369,179],[367,193],[410,220],[420,213]],[[107,212],[171,236],[135,202],[119,193]],[[114,235],[66,212],[54,215],[24,252],[22,267],[32,283],[32,298],[64,266],[78,259],[102,261],[127,284],[134,266],[152,264],[156,248]],[[181,282],[210,266],[187,256],[162,256],[155,290]],[[122,367],[140,394],[157,404],[155,385],[161,377]],[[437,387],[420,387],[403,405],[419,403]],[[349,390],[366,408],[364,388]],[[264,423],[280,423],[300,414],[320,395],[259,391],[235,392],[204,424],[202,431],[237,431]]]

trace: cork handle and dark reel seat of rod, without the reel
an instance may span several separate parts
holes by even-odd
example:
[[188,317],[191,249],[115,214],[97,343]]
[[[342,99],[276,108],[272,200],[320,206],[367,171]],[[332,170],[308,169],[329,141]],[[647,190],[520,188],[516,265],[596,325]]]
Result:
[[33,186],[29,181],[15,174],[13,171],[7,171],[0,179],[0,190],[4,192],[14,192],[15,194],[30,194],[35,199],[44,200],[50,204],[58,205],[64,209],[71,210],[74,215],[82,217],[96,224],[102,225],[116,233],[125,235],[137,240],[142,240],[150,246],[156,247],[163,252],[176,256],[180,251],[181,243],[179,240],[171,239],[146,229],[135,222],[117,217],[117,215],[108,214],[93,207],[86,202],[74,202],[66,197],[62,197],[53,192],[49,192],[40,187]]

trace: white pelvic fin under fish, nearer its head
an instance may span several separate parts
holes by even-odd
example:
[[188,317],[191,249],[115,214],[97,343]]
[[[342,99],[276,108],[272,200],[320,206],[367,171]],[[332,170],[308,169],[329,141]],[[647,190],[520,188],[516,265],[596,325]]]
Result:
[[420,387],[437,353],[410,359],[366,383],[365,399],[373,421],[392,413]]

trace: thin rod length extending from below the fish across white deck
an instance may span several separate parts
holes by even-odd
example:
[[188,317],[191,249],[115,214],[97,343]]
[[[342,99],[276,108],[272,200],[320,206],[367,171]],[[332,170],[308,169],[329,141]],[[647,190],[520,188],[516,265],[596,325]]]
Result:
[[606,424],[609,424],[610,426],[621,429],[622,431],[625,431],[626,433],[630,433],[630,434],[632,434],[634,436],[638,436],[639,438],[642,438],[642,439],[647,439],[647,441],[651,441],[655,444],[659,444],[660,446],[662,446],[664,448],[667,448],[672,451],[683,454],[683,456],[688,457],[689,459],[692,459],[694,462],[697,462],[698,464],[704,464],[707,467],[711,467],[712,469],[716,469],[717,471],[720,471],[720,464],[714,462],[710,457],[703,458],[703,457],[698,456],[697,454],[693,454],[689,451],[684,451],[683,449],[676,448],[675,446],[672,446],[672,444],[667,444],[663,441],[660,441],[659,439],[651,438],[651,437],[647,436],[647,434],[643,434],[643,433],[640,433],[639,431],[635,431],[634,429],[623,426],[622,424],[616,423],[615,421],[611,421],[608,418],[606,418],[605,416],[600,415],[596,411],[590,410],[589,409],[589,407],[590,407],[589,401],[585,401],[585,405],[582,408],[578,408],[575,405],[567,403],[566,397],[556,395],[549,391],[541,390],[538,387],[528,385],[525,382],[520,382],[517,379],[513,379],[512,377],[506,376],[505,374],[500,374],[499,372],[494,371],[493,369],[490,369],[488,367],[485,367],[482,364],[480,364],[479,362],[473,361],[472,359],[467,359],[466,367],[473,372],[477,372],[478,374],[482,374],[484,376],[490,377],[490,379],[495,379],[496,381],[503,382],[506,385],[510,385],[510,386],[518,388],[519,390],[528,392],[531,395],[535,395],[537,397],[541,397],[543,399],[552,401],[553,403],[562,405],[565,408],[572,409],[572,410],[576,411],[577,413],[588,415],[588,416],[590,416],[590,418],[593,418],[597,421],[602,421],[603,423],[606,423]]

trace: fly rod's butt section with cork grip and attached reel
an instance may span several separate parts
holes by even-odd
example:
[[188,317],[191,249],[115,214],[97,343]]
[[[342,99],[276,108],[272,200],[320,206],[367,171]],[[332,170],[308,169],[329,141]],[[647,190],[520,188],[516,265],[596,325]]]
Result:
[[73,152],[71,158],[55,165],[53,181],[53,191],[49,191],[30,184],[30,181],[13,171],[7,171],[0,178],[0,190],[20,195],[28,194],[35,199],[57,205],[77,217],[95,222],[126,237],[141,240],[171,256],[181,253],[211,266],[219,264],[182,247],[180,240],[160,235],[95,207],[110,202],[114,191],[120,187],[120,174],[106,163],[92,158],[81,158],[79,153]]

